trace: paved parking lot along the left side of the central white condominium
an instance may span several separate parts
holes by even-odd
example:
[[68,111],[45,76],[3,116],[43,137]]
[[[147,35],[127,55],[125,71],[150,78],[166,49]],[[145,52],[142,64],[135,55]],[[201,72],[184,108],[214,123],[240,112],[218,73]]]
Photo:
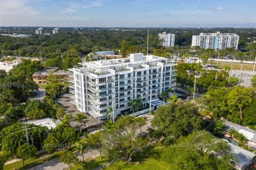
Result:
[[[62,107],[64,107],[65,109],[65,114],[70,114],[71,119],[70,119],[70,125],[75,128],[78,129],[79,128],[79,123],[73,121],[73,118],[76,116],[77,113],[80,113],[79,110],[76,109],[76,106],[69,102],[70,101],[70,97],[69,97],[70,93],[64,93],[60,98],[56,99],[56,103],[58,103],[59,105],[61,105]],[[89,115],[83,113],[87,119],[85,120],[85,123],[82,125],[82,128],[86,128],[88,126],[92,126],[92,125],[97,125],[99,124],[99,120],[94,118],[94,117],[90,117]],[[100,122],[102,123],[102,122]]]

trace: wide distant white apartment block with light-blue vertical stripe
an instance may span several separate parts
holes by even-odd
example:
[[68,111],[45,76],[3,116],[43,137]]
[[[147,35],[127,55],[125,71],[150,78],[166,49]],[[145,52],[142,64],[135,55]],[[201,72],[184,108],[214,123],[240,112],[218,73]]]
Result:
[[225,48],[235,47],[238,49],[239,36],[230,33],[201,33],[197,36],[192,36],[192,47],[200,46],[201,48],[223,50]]

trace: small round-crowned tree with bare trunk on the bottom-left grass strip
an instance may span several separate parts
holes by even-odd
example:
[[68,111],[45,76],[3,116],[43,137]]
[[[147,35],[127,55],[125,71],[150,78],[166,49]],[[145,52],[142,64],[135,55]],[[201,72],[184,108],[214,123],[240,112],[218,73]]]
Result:
[[30,157],[37,155],[37,148],[33,145],[28,145],[27,143],[20,145],[17,149],[17,158],[22,159],[23,168],[25,166],[25,160]]

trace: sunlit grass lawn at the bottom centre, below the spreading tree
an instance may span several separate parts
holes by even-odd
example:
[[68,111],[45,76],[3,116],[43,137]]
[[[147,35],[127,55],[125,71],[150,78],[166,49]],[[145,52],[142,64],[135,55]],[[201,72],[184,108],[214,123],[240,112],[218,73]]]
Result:
[[[118,161],[105,170],[172,170],[171,164],[162,160],[162,153],[165,146],[151,146],[143,152],[138,152],[133,156],[133,163]],[[134,162],[140,162],[135,164]]]

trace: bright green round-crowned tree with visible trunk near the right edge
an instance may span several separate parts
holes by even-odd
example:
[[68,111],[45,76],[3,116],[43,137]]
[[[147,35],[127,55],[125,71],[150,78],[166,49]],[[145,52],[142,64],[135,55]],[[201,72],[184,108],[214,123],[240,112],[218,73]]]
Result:
[[254,92],[251,89],[236,87],[228,96],[229,111],[232,113],[239,108],[240,121],[243,120],[243,109],[252,103]]

